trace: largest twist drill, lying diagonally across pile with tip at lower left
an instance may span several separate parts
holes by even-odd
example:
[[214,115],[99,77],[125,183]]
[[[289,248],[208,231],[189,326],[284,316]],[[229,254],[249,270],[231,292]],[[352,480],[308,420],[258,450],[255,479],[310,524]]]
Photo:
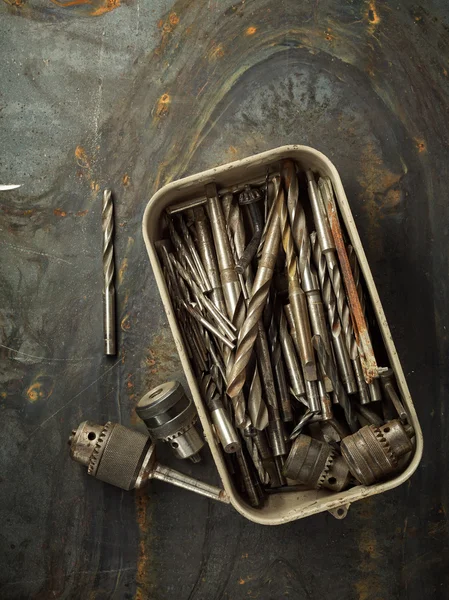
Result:
[[[279,178],[275,178],[277,188],[275,203],[283,202]],[[239,331],[235,362],[228,378],[228,395],[232,398],[243,388],[246,379],[246,367],[251,358],[251,353],[256,342],[258,323],[262,317],[268,293],[270,291],[271,279],[274,273],[276,258],[279,250],[281,232],[279,228],[278,210],[273,213],[267,237],[262,250],[254,284],[251,291],[247,315]]]

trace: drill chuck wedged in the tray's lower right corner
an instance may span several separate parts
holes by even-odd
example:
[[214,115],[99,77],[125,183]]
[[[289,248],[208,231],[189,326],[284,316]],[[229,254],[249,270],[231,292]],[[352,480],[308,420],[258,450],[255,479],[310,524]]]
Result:
[[352,475],[371,485],[398,468],[399,458],[413,450],[413,436],[413,428],[397,419],[380,427],[366,425],[342,440],[341,453]]

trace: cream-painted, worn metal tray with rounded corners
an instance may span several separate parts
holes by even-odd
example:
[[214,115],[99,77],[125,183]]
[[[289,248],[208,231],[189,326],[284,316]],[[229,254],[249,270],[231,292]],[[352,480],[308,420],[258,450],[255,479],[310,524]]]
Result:
[[[201,398],[200,390],[192,371],[168,295],[161,265],[156,253],[155,242],[162,237],[161,217],[168,206],[180,201],[204,196],[204,186],[212,181],[219,188],[231,188],[246,181],[262,180],[265,177],[266,167],[284,158],[292,158],[303,169],[310,168],[315,172],[319,172],[320,175],[329,176],[332,180],[343,221],[365,278],[368,294],[371,298],[385,348],[390,359],[390,365],[395,371],[401,396],[409,413],[411,424],[415,429],[416,443],[413,456],[408,461],[406,468],[389,481],[371,486],[359,485],[339,493],[323,490],[273,493],[268,495],[262,508],[255,509],[249,506],[235,489],[226,468],[221,448],[214,436],[208,412]],[[169,183],[156,192],[148,202],[143,217],[143,237],[187,382],[198,409],[206,440],[212,452],[224,489],[230,497],[231,504],[239,513],[251,521],[263,525],[279,525],[324,511],[330,511],[337,518],[344,518],[352,502],[395,488],[411,477],[422,457],[423,437],[421,427],[340,176],[334,165],[324,154],[308,146],[282,146]]]

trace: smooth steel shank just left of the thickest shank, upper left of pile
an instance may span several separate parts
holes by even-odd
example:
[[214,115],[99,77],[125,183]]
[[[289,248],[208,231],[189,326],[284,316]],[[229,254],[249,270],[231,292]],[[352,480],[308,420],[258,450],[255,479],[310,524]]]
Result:
[[218,270],[217,257],[215,255],[212,233],[209,228],[209,219],[202,206],[193,211],[195,218],[195,231],[198,244],[198,251],[201,256],[204,268],[207,271],[211,284],[210,298],[218,310],[226,314],[226,303],[224,301],[223,290],[221,288],[220,272]]

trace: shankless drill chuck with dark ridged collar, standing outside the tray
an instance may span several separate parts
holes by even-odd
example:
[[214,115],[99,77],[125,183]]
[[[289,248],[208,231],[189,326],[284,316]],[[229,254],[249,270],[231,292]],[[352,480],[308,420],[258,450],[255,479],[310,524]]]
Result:
[[136,413],[153,441],[169,443],[177,458],[201,460],[198,453],[204,440],[195,427],[198,415],[180,383],[169,381],[147,392],[136,406]]

